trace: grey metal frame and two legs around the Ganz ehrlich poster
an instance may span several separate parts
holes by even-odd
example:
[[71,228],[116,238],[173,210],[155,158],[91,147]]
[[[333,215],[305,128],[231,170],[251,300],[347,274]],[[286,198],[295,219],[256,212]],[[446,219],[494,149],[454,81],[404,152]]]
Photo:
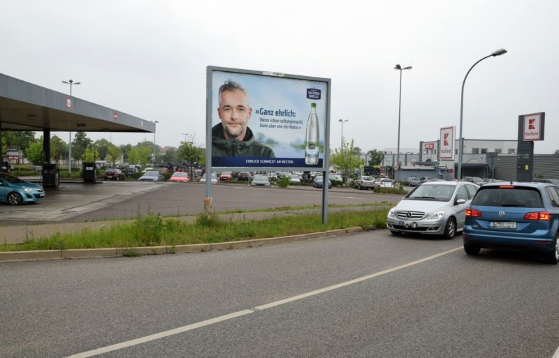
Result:
[[[212,77],[214,72],[226,72],[226,73],[238,73],[242,75],[259,75],[264,77],[276,77],[291,80],[306,80],[314,82],[324,82],[326,84],[326,118],[324,119],[324,157],[322,161],[322,166],[320,167],[214,167],[212,165],[212,113],[215,111],[214,103],[212,103],[213,90],[212,90]],[[329,154],[330,154],[330,103],[331,103],[331,79],[323,77],[312,77],[304,75],[293,75],[288,73],[277,73],[270,71],[260,71],[260,70],[244,70],[240,68],[227,68],[219,66],[208,66],[206,68],[206,132],[205,132],[205,142],[206,142],[206,153],[205,153],[205,172],[206,183],[205,183],[205,199],[204,208],[205,214],[211,215],[211,173],[213,168],[219,168],[219,170],[227,171],[277,171],[277,170],[298,170],[298,171],[308,171],[308,170],[321,170],[324,175],[324,183],[328,183],[328,168],[330,167]],[[322,207],[323,207],[323,222],[326,223],[326,207],[328,207],[328,184],[323,185],[323,195],[322,195]]]

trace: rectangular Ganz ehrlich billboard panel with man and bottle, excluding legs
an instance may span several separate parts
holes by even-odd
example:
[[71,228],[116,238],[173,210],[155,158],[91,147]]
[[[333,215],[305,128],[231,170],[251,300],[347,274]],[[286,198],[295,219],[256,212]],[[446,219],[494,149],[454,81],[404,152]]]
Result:
[[324,169],[330,79],[207,70],[212,167]]

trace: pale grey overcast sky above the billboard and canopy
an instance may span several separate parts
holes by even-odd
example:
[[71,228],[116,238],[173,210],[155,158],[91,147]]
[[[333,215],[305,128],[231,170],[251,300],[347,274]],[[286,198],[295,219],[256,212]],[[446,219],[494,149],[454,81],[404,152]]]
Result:
[[[537,154],[559,149],[559,2],[0,0],[0,73],[157,124],[157,144],[205,140],[205,68],[332,80],[331,147],[419,149],[463,136],[516,140],[519,114],[546,112]],[[253,117],[254,119],[254,117]],[[66,134],[61,134],[67,140]],[[90,133],[96,140],[108,133]],[[112,134],[115,144],[153,140]]]

